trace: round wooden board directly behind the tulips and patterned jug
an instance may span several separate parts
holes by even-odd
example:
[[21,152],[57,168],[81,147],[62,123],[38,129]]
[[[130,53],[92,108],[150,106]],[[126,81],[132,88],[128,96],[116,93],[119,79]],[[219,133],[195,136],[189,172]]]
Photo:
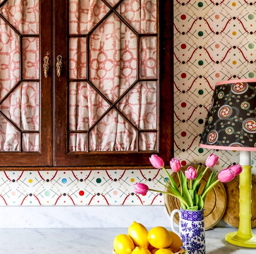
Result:
[[[189,166],[192,166],[194,168],[197,168],[197,165],[188,165],[182,167],[182,171],[184,172]],[[204,167],[205,169],[205,167]],[[204,174],[202,180],[201,180],[201,186],[199,189],[202,191],[204,186],[207,183],[207,180],[211,174],[211,170],[207,170]],[[172,178],[178,185],[180,186],[180,182],[178,179],[178,175],[176,173],[172,174]],[[167,188],[164,190],[165,192],[170,192]],[[180,209],[180,202],[177,198],[174,198],[173,196],[164,194],[164,204],[166,206],[166,209],[168,211],[168,214],[170,215],[172,210],[174,209]],[[204,228],[205,230],[208,230],[212,227],[214,227],[222,218],[224,212],[226,209],[226,191],[224,188],[224,185],[222,182],[219,182],[216,184],[212,190],[208,193],[206,196],[205,204],[204,204]],[[179,216],[176,214],[174,216],[174,222],[176,224],[179,224]]]

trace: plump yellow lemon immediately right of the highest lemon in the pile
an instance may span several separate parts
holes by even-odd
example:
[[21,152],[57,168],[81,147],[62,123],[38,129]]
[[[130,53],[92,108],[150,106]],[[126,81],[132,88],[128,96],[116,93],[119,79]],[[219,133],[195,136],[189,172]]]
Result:
[[148,242],[158,249],[168,248],[172,243],[172,237],[166,228],[158,226],[149,230]]

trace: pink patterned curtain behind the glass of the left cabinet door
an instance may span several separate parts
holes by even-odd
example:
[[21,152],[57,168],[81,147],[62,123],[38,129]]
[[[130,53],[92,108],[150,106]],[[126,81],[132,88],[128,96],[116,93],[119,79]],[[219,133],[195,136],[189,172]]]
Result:
[[0,6],[0,151],[39,150],[39,36],[29,36],[39,35],[38,13],[38,0]]

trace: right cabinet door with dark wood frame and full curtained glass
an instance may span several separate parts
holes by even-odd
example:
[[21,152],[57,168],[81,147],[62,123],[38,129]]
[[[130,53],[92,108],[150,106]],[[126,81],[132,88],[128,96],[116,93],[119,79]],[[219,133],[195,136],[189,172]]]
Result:
[[62,58],[54,74],[54,166],[141,168],[151,154],[167,162],[172,34],[163,36],[170,18],[160,11],[170,10],[168,0],[64,2],[54,1],[54,64]]

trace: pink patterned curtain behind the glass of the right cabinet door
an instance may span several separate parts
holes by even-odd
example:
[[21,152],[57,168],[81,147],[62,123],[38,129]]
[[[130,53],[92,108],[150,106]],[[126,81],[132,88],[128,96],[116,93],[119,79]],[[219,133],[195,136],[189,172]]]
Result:
[[106,2],[69,2],[69,148],[155,150],[157,2]]

